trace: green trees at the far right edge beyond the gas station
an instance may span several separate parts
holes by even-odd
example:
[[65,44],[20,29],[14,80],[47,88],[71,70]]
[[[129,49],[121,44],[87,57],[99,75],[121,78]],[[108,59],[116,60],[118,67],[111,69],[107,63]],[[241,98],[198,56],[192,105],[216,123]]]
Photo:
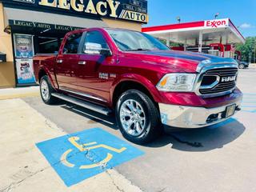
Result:
[[[256,37],[246,38],[245,44],[236,45],[236,50],[241,51],[242,61],[255,61]],[[252,58],[252,60],[250,59]]]

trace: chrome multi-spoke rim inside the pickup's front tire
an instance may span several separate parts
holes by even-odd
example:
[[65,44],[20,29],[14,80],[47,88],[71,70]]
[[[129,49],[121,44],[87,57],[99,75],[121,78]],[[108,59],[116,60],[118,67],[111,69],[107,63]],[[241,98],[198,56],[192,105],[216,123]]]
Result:
[[120,121],[127,134],[134,137],[142,134],[146,127],[146,115],[142,106],[133,99],[126,100],[120,108]]

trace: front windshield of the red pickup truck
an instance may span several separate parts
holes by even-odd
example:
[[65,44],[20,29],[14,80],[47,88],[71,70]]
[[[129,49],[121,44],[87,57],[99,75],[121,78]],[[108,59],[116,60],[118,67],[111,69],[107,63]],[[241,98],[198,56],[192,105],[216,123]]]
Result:
[[123,51],[133,50],[170,50],[158,39],[149,34],[132,30],[106,30],[118,48]]

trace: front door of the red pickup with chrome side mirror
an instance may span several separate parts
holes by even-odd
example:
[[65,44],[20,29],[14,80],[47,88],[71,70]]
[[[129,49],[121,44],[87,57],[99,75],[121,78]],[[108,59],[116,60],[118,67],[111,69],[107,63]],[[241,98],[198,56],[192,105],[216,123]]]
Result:
[[110,99],[110,74],[108,66],[114,56],[102,55],[102,49],[110,50],[106,39],[98,30],[84,34],[78,62],[78,90],[93,100],[108,102]]

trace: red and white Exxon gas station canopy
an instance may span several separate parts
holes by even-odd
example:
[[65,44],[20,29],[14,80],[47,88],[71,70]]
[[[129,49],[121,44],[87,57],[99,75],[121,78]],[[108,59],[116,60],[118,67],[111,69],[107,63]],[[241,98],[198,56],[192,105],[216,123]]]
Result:
[[142,32],[151,34],[156,38],[166,39],[167,46],[170,41],[186,46],[199,46],[199,52],[201,52],[200,46],[207,46],[212,43],[224,45],[245,43],[245,38],[242,37],[242,34],[229,18],[151,26],[143,28]]

